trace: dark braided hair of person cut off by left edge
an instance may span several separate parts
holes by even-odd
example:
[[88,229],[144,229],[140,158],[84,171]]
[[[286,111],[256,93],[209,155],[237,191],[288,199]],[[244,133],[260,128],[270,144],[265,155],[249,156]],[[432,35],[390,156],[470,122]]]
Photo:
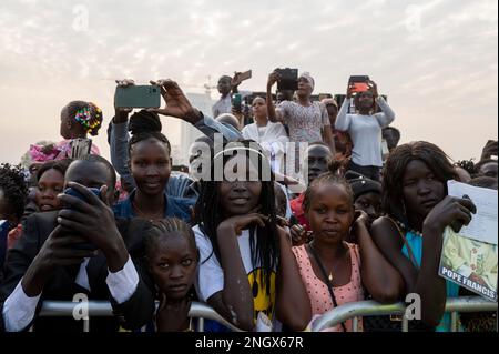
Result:
[[0,164],[0,191],[7,200],[9,209],[20,219],[24,212],[24,203],[28,196],[28,185],[21,165],[9,163]]

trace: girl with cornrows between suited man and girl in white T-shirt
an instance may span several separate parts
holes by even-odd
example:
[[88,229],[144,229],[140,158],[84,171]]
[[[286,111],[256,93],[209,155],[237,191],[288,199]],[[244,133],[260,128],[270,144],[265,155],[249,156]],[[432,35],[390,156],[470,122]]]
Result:
[[144,243],[149,271],[160,299],[156,331],[192,331],[190,293],[200,261],[192,229],[176,218],[151,222]]

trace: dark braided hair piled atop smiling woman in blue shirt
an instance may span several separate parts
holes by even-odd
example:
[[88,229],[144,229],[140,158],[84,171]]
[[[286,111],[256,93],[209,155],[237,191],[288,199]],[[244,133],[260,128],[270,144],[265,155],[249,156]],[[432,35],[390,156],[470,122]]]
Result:
[[132,117],[130,117],[129,122],[129,131],[132,134],[132,139],[130,139],[129,142],[129,153],[131,152],[133,144],[154,138],[166,145],[170,154],[172,152],[172,146],[170,145],[167,138],[161,133],[161,129],[160,117],[156,113],[146,110],[133,113]]

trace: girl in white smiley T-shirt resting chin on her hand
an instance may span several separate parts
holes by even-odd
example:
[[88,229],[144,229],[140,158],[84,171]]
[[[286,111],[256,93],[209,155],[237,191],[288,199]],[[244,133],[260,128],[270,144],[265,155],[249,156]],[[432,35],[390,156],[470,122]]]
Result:
[[[223,181],[215,179],[220,169]],[[304,330],[309,302],[289,234],[276,223],[268,159],[255,142],[228,144],[213,158],[212,176],[202,182],[195,213],[198,296],[246,331],[268,331],[274,320]]]

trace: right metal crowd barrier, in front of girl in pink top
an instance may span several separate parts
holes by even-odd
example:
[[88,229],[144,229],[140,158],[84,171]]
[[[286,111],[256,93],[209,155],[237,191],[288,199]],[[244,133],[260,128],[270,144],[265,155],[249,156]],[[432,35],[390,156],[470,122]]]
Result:
[[[457,332],[457,313],[459,312],[486,312],[497,311],[497,302],[490,302],[480,296],[462,296],[447,299],[445,312],[450,312],[451,332]],[[375,315],[401,315],[401,332],[408,332],[409,320],[405,316],[406,304],[403,302],[394,304],[380,304],[376,301],[360,301],[348,303],[317,317],[312,323],[312,332],[334,327],[347,320],[352,321],[352,331],[358,332],[358,318]],[[497,331],[497,323],[496,323]]]

